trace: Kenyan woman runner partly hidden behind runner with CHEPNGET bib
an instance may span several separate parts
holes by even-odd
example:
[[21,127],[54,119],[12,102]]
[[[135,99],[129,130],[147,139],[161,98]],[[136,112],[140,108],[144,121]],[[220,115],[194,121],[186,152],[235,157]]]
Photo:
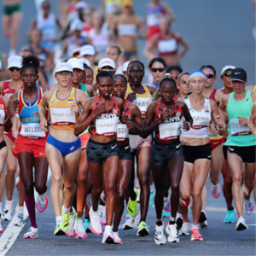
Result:
[[[127,79],[124,75],[117,74],[113,76],[113,96],[117,96],[125,101],[125,118],[123,117],[123,123],[119,122],[117,141],[119,142],[119,174],[117,182],[117,195],[116,195],[116,207],[114,211],[113,219],[113,237],[118,243],[122,243],[119,238],[118,228],[120,219],[124,212],[125,207],[125,194],[128,189],[128,185],[131,178],[132,170],[132,155],[131,148],[129,146],[129,131],[137,131],[141,133],[141,127],[143,126],[142,115],[136,105],[125,100],[125,92],[127,90]],[[128,212],[131,212],[132,216],[137,214],[137,201],[134,206],[128,207]],[[133,214],[132,214],[133,213]]]

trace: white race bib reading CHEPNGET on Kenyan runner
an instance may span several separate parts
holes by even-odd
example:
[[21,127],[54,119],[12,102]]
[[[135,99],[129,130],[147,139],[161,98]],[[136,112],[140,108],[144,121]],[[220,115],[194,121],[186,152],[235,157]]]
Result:
[[104,136],[113,136],[118,129],[119,118],[117,116],[112,118],[96,119],[96,133]]

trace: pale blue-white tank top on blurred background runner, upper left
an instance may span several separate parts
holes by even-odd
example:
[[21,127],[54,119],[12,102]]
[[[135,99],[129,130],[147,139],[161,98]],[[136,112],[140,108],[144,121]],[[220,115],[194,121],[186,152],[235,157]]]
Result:
[[54,14],[49,14],[47,19],[44,19],[42,14],[38,15],[37,28],[42,31],[43,41],[52,41],[56,38],[57,24]]

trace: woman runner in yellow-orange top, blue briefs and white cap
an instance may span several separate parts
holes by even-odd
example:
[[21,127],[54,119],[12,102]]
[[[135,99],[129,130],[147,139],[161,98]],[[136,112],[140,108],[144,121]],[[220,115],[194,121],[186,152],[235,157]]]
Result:
[[[76,192],[74,183],[79,169],[81,140],[73,133],[80,108],[87,96],[84,91],[73,88],[73,68],[69,63],[55,67],[57,89],[44,93],[39,104],[40,128],[48,131],[45,108],[49,105],[51,129],[47,137],[45,152],[52,172],[50,196],[55,210],[55,236],[74,235],[75,212],[71,210]],[[61,209],[62,181],[64,183],[64,206]],[[71,211],[71,212],[70,212]]]

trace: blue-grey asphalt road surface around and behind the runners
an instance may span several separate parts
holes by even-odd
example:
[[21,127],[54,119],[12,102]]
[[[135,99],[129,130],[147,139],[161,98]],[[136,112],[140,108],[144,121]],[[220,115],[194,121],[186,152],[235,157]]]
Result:
[[[57,11],[57,0],[51,0],[53,9]],[[99,6],[101,0],[90,0]],[[145,4],[148,1],[137,0],[135,11],[138,15],[145,16]],[[253,28],[253,4],[251,1],[241,0],[172,0],[168,1],[177,16],[173,30],[179,32],[189,43],[189,52],[181,61],[184,70],[191,71],[203,64],[212,64],[216,67],[218,76],[222,67],[227,64],[243,67],[247,70],[248,84],[255,84],[255,44],[252,38]],[[27,43],[26,32],[32,18],[36,15],[33,0],[23,0],[23,20],[20,26],[20,49]],[[0,10],[2,15],[2,9]],[[3,38],[0,32],[0,50],[8,52],[9,42]],[[147,62],[143,57],[144,42],[138,42],[140,59]],[[220,80],[216,87],[221,87]],[[222,181],[221,181],[222,183]],[[210,191],[207,184],[207,190]],[[3,199],[3,202],[5,198]],[[14,195],[15,205],[18,201],[17,191]],[[249,230],[236,232],[236,224],[223,224],[225,216],[224,197],[213,199],[209,192],[207,198],[207,216],[209,227],[201,230],[204,237],[202,242],[191,242],[190,237],[181,237],[177,244],[167,243],[165,246],[156,247],[154,244],[154,208],[148,211],[148,225],[150,236],[139,238],[136,230],[119,230],[119,236],[124,241],[123,245],[103,245],[102,236],[89,234],[84,240],[76,240],[66,236],[55,237],[55,216],[51,201],[49,207],[43,213],[37,213],[39,237],[36,240],[24,240],[23,234],[29,229],[29,221],[20,231],[20,235],[6,255],[155,255],[172,253],[172,255],[254,255],[256,240],[256,215],[246,216]],[[124,215],[125,217],[125,215]],[[122,222],[123,224],[123,222]],[[167,218],[165,219],[167,224]],[[6,230],[8,222],[3,222]],[[0,237],[0,247],[5,245]],[[0,255],[2,256],[3,252]]]

